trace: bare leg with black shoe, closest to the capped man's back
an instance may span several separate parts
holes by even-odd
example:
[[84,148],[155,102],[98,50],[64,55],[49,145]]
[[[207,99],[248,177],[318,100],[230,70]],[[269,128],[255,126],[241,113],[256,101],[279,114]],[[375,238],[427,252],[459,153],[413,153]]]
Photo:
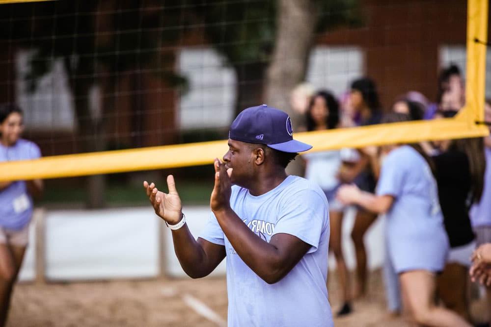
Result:
[[343,226],[343,212],[330,211],[329,212],[329,223],[330,223],[330,236],[329,236],[329,249],[334,253],[336,258],[336,269],[339,280],[339,285],[342,291],[342,303],[343,307],[338,314],[348,314],[351,312],[350,302],[350,291],[349,291],[349,272],[346,268],[346,263],[344,261],[343,250],[341,246],[342,242],[342,226]]

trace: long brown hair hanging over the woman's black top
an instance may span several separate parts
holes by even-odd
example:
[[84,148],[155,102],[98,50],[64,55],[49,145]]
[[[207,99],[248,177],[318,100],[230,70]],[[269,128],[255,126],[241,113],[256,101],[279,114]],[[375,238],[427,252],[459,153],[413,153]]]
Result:
[[471,178],[470,200],[479,202],[483,195],[486,158],[484,156],[484,139],[482,137],[452,140],[449,149],[464,152],[469,160]]

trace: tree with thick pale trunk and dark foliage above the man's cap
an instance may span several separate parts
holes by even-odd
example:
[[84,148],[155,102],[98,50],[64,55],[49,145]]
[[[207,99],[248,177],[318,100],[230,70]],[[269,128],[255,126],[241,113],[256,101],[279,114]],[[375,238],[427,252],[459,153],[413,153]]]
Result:
[[[204,23],[208,41],[236,72],[236,113],[261,100],[279,103],[279,107],[288,110],[284,102],[271,102],[273,97],[265,95],[277,90],[271,85],[273,80],[280,82],[279,85],[285,82],[296,85],[305,77],[316,32],[360,23],[357,0],[189,0],[188,3]],[[273,72],[267,75],[272,64]],[[275,73],[289,70],[295,73]],[[278,75],[289,80],[281,81]],[[285,97],[285,92],[281,92],[281,97]]]

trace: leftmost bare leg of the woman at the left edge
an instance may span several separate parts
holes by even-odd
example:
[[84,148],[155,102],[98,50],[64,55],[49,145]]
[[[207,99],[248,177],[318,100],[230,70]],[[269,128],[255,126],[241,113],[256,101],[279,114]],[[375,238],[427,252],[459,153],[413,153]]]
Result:
[[7,321],[8,304],[12,283],[15,278],[15,261],[11,248],[0,244],[0,326]]

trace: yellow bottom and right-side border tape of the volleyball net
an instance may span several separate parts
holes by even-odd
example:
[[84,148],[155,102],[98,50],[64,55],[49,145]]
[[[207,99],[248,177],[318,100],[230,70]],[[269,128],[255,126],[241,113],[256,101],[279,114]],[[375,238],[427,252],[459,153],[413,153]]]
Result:
[[[453,119],[418,121],[295,134],[312,144],[312,151],[360,148],[368,145],[480,137],[489,134],[484,119],[488,0],[467,4],[466,105]],[[121,151],[44,157],[0,164],[0,180],[84,176],[212,163],[227,151],[226,141],[201,142]]]

